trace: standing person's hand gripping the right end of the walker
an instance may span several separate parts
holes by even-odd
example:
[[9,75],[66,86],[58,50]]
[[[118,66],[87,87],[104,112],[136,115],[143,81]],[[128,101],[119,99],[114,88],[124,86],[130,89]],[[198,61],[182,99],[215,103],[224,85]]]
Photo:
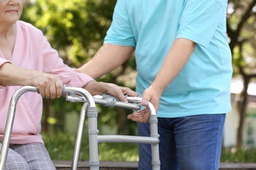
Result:
[[146,106],[148,105],[148,101],[150,101],[152,105],[154,105],[154,108],[156,109],[156,112],[157,112],[159,107],[160,97],[161,97],[161,92],[158,92],[158,90],[150,86],[149,88],[144,90],[142,94],[142,100],[140,102],[140,104],[145,108],[137,112],[133,112],[132,114],[129,114],[127,118],[139,123],[148,122],[149,116],[150,116],[150,111],[146,108]]

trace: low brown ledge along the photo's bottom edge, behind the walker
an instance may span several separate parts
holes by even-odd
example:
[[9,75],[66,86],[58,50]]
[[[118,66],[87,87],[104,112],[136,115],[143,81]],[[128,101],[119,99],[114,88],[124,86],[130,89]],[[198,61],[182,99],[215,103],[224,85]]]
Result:
[[[71,169],[72,161],[53,161],[57,170]],[[135,170],[137,161],[100,161],[100,170]],[[89,170],[88,161],[79,161],[77,170]],[[256,163],[221,163],[220,170],[256,170]]]

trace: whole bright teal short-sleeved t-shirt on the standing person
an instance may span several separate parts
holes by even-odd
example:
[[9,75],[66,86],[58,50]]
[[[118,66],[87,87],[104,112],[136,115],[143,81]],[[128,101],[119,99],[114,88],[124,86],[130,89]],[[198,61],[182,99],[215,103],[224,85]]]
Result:
[[231,110],[226,5],[227,0],[117,0],[104,43],[135,47],[140,96],[152,84],[175,39],[196,42],[192,56],[161,96],[159,117]]

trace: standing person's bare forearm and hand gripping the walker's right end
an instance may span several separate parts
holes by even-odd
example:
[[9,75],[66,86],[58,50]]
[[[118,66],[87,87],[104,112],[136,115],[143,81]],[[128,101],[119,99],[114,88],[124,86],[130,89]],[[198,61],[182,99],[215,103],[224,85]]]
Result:
[[[173,46],[171,46],[171,49],[167,53],[154,82],[152,82],[149,88],[144,90],[141,105],[146,106],[148,105],[148,101],[150,101],[154,105],[156,111],[158,110],[161,94],[173,81],[175,76],[180,73],[195,47],[196,43],[188,39],[180,38],[175,40]],[[149,115],[144,113],[144,111],[135,112],[129,114],[127,118],[141,123],[148,122]]]

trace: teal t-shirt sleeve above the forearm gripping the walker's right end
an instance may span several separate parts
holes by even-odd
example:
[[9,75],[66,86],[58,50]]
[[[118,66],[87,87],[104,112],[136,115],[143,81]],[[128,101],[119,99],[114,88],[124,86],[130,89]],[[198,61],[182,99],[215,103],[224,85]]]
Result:
[[188,0],[184,5],[177,38],[207,47],[217,29],[226,0]]

